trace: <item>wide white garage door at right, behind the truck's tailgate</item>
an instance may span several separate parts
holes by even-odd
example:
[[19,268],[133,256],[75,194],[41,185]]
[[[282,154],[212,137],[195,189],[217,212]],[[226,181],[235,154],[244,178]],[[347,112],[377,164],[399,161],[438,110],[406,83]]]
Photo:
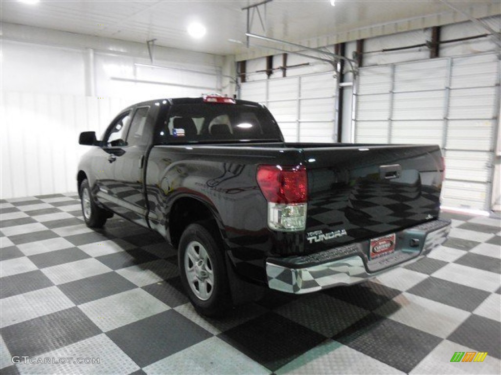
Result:
[[444,206],[490,209],[499,62],[494,53],[360,69],[355,141],[437,143]]

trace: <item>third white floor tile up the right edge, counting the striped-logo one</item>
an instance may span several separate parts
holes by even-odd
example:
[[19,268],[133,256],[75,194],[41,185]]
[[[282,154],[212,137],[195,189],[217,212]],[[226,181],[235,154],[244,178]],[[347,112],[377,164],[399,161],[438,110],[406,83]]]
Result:
[[444,265],[432,273],[432,276],[490,292],[497,290],[500,277],[498,273],[456,263]]

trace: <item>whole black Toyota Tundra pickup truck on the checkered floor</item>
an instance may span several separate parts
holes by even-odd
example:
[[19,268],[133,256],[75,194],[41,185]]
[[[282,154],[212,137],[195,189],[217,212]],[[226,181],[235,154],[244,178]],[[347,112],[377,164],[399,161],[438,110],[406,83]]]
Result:
[[354,284],[427,254],[444,163],[436,145],[286,143],[259,103],[205,96],[121,111],[77,173],[85,222],[114,213],[178,249],[202,314]]

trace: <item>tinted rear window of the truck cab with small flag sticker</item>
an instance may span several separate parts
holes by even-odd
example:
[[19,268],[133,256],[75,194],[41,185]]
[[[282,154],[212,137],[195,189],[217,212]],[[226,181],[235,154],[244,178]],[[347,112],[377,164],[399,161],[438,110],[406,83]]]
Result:
[[160,143],[282,141],[279,126],[262,107],[241,104],[173,105],[159,131]]

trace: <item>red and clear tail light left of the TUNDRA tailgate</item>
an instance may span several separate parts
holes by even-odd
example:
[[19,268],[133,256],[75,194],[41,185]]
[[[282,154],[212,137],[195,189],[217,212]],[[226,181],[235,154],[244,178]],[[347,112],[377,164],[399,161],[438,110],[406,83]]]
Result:
[[304,230],[308,200],[306,168],[260,165],[257,179],[268,200],[268,226],[281,231]]

